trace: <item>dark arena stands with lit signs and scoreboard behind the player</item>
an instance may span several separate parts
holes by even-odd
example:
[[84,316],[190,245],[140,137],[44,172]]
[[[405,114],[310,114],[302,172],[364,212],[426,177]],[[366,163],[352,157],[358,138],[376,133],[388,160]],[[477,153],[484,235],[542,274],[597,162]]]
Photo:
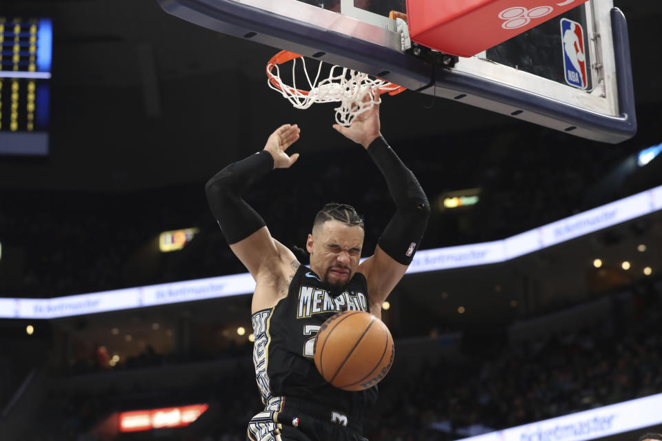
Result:
[[[628,19],[632,139],[383,99],[382,133],[432,215],[417,271],[383,310],[396,356],[371,441],[662,431],[662,3],[614,5]],[[40,76],[11,29],[25,27],[30,52],[42,18]],[[0,23],[2,70],[27,66],[17,90],[0,78],[0,440],[245,440],[262,409],[250,287],[224,277],[245,269],[204,184],[298,123],[301,158],[247,201],[298,247],[325,203],[354,205],[369,256],[394,210],[379,170],[332,130],[332,105],[294,110],[268,88],[276,50],[157,1],[2,0]],[[556,239],[481,260],[526,232]]]

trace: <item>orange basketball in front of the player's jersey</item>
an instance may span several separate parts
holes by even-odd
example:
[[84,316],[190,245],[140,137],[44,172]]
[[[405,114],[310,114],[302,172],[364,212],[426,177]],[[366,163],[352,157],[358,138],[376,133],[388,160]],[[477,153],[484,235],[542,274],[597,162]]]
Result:
[[345,391],[361,391],[380,382],[394,355],[393,338],[384,322],[364,311],[331,316],[315,338],[317,370]]

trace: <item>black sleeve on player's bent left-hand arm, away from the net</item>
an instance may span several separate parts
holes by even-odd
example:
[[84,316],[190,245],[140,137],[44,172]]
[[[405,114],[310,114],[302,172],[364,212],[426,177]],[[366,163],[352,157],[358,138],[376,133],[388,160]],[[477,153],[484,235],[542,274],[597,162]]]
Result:
[[265,226],[261,216],[241,195],[273,168],[274,158],[261,150],[228,165],[205,185],[207,202],[228,243],[237,243]]

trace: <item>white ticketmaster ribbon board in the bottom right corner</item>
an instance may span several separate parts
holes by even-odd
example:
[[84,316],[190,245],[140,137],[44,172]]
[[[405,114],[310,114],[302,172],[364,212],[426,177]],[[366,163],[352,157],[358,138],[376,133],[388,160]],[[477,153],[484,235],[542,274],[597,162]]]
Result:
[[662,393],[458,441],[587,441],[662,424]]

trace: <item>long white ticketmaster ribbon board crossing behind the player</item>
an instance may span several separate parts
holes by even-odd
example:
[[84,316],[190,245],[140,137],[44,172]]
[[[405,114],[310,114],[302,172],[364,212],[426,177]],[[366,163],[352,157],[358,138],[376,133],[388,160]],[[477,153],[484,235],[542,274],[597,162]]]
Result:
[[[505,262],[661,209],[662,185],[507,239],[459,247],[422,249],[414,256],[407,274]],[[77,296],[0,298],[0,318],[83,316],[250,294],[254,289],[253,278],[248,273],[242,273]],[[172,335],[168,331],[166,334]]]

